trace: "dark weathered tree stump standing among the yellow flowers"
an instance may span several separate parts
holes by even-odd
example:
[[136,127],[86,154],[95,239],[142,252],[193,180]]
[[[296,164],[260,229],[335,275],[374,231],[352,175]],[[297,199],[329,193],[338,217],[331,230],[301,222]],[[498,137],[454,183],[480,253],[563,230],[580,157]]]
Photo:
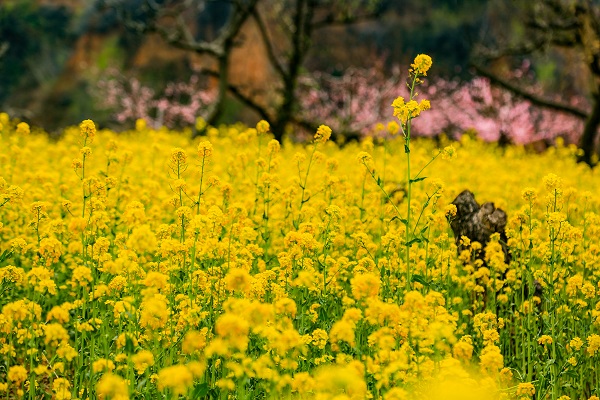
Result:
[[[506,213],[494,206],[494,203],[483,203],[481,206],[475,201],[475,196],[469,190],[464,190],[452,202],[456,206],[456,217],[450,221],[450,227],[454,232],[454,240],[458,248],[458,254],[465,249],[461,244],[463,236],[468,237],[472,242],[476,241],[485,246],[490,241],[490,236],[494,233],[500,234],[500,244],[504,252],[504,262],[510,262],[508,246],[506,245]],[[484,261],[484,252],[480,252],[477,258]]]

